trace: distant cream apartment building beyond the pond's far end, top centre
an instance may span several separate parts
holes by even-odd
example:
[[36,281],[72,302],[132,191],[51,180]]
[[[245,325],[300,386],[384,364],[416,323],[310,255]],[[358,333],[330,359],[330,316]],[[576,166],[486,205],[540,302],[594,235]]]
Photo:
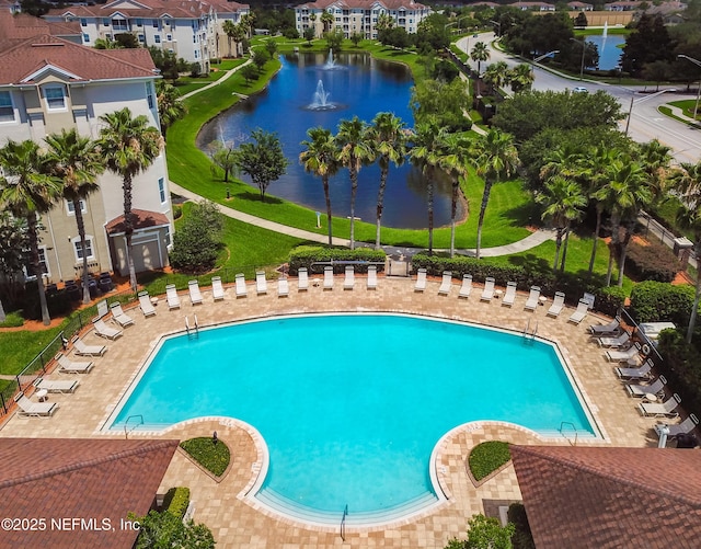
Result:
[[[333,15],[333,24],[321,21],[324,12]],[[413,34],[430,12],[429,7],[413,0],[317,0],[295,7],[295,19],[299,34],[313,27],[315,35],[321,36],[337,28],[346,38],[360,33],[365,38],[376,39],[380,15],[389,15],[394,26]]]

